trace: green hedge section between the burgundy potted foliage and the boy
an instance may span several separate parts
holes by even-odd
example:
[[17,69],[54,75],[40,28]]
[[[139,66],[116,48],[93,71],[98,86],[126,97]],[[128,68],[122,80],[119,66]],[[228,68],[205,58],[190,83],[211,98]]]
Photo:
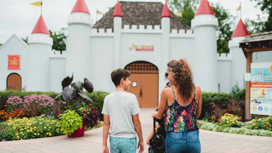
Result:
[[87,95],[91,97],[92,99],[93,106],[100,113],[101,121],[104,121],[104,116],[103,114],[101,114],[101,112],[102,112],[105,96],[107,96],[108,94],[109,93],[104,91],[93,91],[91,94],[87,93]]

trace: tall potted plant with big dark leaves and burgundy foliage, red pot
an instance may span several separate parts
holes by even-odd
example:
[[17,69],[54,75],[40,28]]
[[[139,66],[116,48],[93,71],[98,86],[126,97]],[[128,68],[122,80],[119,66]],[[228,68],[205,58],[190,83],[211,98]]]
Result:
[[[61,96],[65,109],[75,111],[82,118],[84,129],[85,127],[92,128],[98,125],[100,113],[92,106],[92,99],[83,92],[84,88],[87,92],[92,93],[92,83],[86,78],[84,78],[84,83],[80,81],[72,83],[72,81],[73,74],[71,78],[66,77],[61,83],[63,91],[58,96]],[[71,135],[77,135],[76,133],[79,131],[80,129],[75,130]]]

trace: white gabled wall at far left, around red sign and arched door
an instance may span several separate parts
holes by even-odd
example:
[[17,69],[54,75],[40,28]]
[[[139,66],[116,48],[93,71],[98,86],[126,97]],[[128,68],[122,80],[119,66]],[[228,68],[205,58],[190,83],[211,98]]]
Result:
[[[8,70],[8,55],[20,55],[20,70]],[[6,89],[7,78],[11,73],[18,73],[21,76],[22,88],[25,88],[28,55],[28,45],[16,34],[0,47],[0,91]]]

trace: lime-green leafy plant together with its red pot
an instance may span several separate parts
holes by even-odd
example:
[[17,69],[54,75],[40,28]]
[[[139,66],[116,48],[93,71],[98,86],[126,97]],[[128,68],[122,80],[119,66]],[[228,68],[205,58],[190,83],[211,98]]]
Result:
[[[63,134],[67,134],[69,138],[81,137],[84,135],[85,126],[83,126],[83,119],[74,110],[66,110],[63,114],[60,114],[60,131]],[[75,134],[73,134],[76,130]]]

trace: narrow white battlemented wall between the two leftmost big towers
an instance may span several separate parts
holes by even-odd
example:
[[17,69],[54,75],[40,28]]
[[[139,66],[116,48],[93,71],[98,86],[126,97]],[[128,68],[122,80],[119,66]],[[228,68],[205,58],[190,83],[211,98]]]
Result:
[[[50,58],[50,91],[62,92],[61,81],[66,78],[66,51],[52,50]],[[72,75],[72,74],[71,74]],[[71,75],[69,77],[71,77]]]

